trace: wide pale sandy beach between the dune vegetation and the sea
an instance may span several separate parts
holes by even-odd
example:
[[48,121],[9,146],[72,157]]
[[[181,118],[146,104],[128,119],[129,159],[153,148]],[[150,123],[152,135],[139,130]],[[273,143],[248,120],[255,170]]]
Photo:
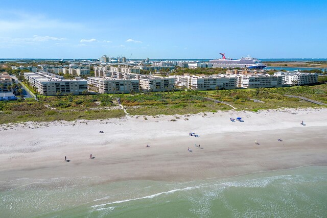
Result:
[[324,117],[327,109],[285,109],[2,125],[1,180],[190,181],[327,165]]

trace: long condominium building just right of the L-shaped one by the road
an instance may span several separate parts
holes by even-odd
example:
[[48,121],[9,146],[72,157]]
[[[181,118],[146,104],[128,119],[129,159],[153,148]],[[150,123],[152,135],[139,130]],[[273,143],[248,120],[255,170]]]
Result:
[[139,81],[137,79],[115,79],[109,77],[88,77],[87,84],[90,90],[99,93],[130,93],[131,91],[138,92]]

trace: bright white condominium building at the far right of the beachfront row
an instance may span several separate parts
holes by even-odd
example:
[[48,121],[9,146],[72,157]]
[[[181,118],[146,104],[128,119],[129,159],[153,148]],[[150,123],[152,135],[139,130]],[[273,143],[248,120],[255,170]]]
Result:
[[285,84],[288,85],[308,85],[318,82],[318,74],[309,72],[275,72],[274,75],[284,76]]

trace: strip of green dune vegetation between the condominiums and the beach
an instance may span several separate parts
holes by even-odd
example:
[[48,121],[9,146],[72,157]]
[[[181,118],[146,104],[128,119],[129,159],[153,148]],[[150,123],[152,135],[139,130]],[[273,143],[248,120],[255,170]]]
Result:
[[[196,114],[231,110],[257,112],[279,108],[326,108],[285,94],[303,96],[327,104],[327,85],[286,88],[232,89],[212,91],[153,92],[134,95],[120,94],[122,104],[131,115]],[[0,102],[0,124],[27,121],[54,121],[75,119],[104,119],[125,116],[123,110],[113,108],[116,96],[96,94],[88,96],[41,96],[35,100]],[[253,102],[257,99],[265,103]],[[137,118],[137,117],[136,117]],[[176,117],[177,119],[177,117]]]

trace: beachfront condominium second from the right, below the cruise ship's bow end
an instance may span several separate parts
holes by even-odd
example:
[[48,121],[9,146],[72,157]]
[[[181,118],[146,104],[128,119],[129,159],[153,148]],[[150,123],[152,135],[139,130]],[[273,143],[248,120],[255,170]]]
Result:
[[281,75],[256,74],[256,75],[240,75],[238,87],[242,88],[271,88],[282,87],[284,85],[284,77]]

